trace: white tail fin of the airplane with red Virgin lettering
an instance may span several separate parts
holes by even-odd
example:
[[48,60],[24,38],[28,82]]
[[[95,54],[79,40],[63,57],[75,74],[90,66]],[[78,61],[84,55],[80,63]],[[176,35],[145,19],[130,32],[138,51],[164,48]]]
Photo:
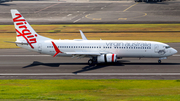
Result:
[[33,44],[37,43],[38,41],[51,40],[38,35],[18,10],[11,9],[11,14],[17,33],[16,42],[28,43],[30,47],[34,49]]

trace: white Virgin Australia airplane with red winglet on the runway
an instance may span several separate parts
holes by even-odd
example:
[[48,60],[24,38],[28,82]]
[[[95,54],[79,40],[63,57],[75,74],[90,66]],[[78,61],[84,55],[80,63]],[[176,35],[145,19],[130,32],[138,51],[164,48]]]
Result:
[[161,63],[162,59],[177,53],[169,45],[155,41],[88,40],[81,30],[82,39],[53,40],[37,34],[18,10],[11,9],[11,14],[17,33],[13,43],[53,57],[90,58],[89,65],[114,63],[122,58],[159,58],[158,63]]

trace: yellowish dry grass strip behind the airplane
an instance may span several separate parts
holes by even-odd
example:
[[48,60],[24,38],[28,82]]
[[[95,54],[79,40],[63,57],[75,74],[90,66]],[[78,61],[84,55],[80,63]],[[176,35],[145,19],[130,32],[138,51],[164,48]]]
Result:
[[[90,40],[149,40],[180,42],[180,24],[63,24],[32,25],[35,31],[52,39],[81,39],[82,30]],[[14,25],[0,25],[0,48],[17,48]]]

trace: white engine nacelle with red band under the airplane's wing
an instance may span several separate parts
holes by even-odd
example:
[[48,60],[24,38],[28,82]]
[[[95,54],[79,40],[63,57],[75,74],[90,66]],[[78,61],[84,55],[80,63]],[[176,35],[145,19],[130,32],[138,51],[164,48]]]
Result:
[[97,57],[98,63],[107,63],[107,62],[116,62],[117,55],[116,54],[103,54]]

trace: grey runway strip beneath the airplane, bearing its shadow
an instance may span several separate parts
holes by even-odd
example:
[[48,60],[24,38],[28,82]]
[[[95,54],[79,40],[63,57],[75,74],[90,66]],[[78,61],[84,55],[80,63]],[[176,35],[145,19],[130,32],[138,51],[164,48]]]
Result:
[[[180,51],[180,43],[169,43]],[[25,49],[0,50],[0,79],[180,79],[180,54],[123,58],[114,64],[88,66],[88,58],[55,57]]]

